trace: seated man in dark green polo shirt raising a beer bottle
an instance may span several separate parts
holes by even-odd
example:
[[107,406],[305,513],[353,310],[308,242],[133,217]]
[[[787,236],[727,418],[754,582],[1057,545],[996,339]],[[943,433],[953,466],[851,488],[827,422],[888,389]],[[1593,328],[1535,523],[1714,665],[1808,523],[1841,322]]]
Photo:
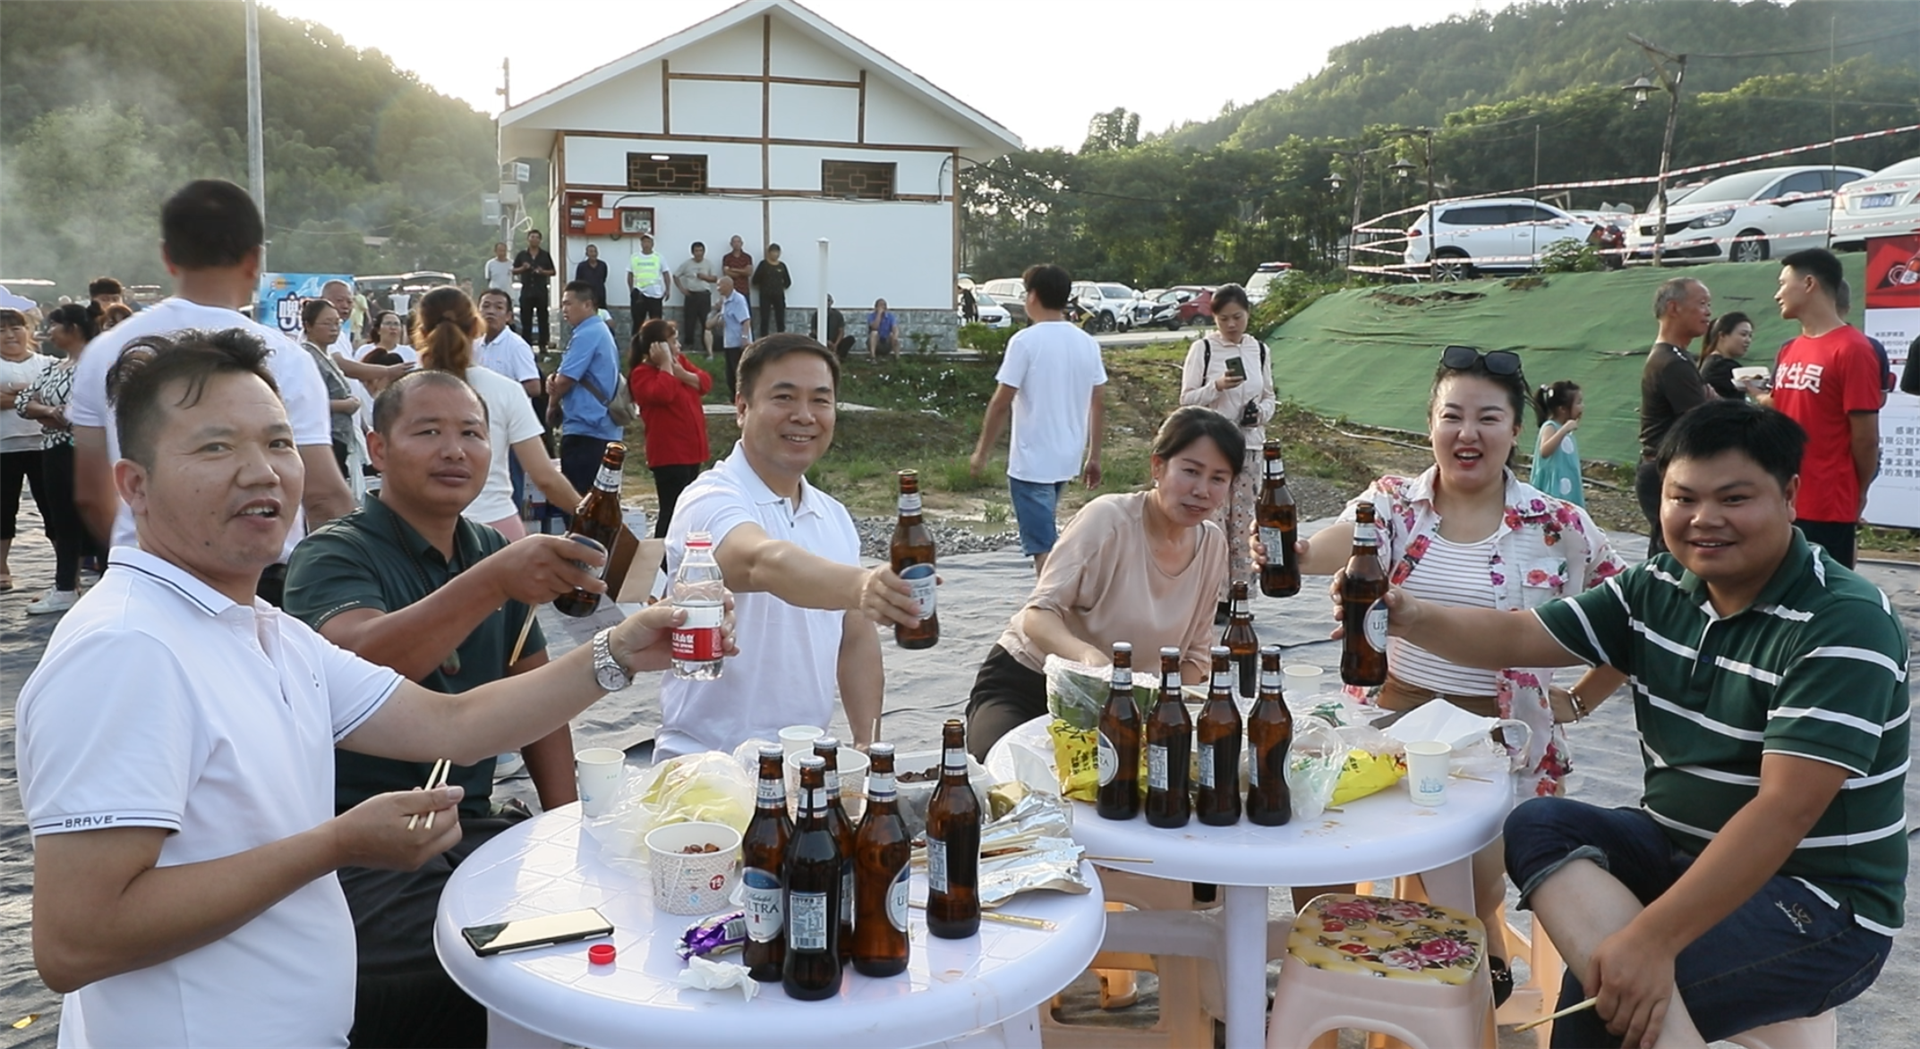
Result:
[[[547,663],[545,638],[530,619],[540,603],[591,584],[576,565],[591,553],[559,536],[509,546],[461,517],[486,484],[490,457],[486,405],[472,388],[445,371],[397,380],[374,402],[367,450],[384,484],[294,549],[286,611],[436,692],[467,692]],[[515,655],[522,626],[526,642]],[[574,801],[564,724],[520,753],[543,807]],[[413,790],[430,770],[336,749],[336,807]],[[420,870],[340,870],[359,947],[355,1045],[486,1043],[486,1012],[434,957],[434,907],[453,868],[513,818],[492,813],[493,759],[455,765],[447,782],[467,790],[459,845]]]

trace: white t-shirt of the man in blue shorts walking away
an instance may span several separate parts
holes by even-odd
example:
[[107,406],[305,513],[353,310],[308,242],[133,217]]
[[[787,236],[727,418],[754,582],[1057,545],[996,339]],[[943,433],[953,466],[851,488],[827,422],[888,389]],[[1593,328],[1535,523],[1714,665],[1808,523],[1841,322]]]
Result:
[[1035,484],[1079,476],[1087,409],[1094,386],[1106,386],[1100,344],[1066,321],[1043,321],[1014,334],[995,378],[1020,390],[1006,476]]

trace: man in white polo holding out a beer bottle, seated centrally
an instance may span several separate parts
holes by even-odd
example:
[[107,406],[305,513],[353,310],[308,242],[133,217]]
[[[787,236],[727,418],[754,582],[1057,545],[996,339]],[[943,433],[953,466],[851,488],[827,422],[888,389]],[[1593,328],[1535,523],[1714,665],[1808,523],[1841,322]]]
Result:
[[660,682],[655,761],[831,724],[835,690],[854,744],[874,740],[887,684],[876,621],[916,624],[920,603],[887,565],[860,567],[847,507],[806,482],[833,444],[837,388],[839,361],[804,334],[772,334],[739,359],[739,444],[680,494],[666,569],[680,569],[687,534],[712,536],[745,655],[714,680]]

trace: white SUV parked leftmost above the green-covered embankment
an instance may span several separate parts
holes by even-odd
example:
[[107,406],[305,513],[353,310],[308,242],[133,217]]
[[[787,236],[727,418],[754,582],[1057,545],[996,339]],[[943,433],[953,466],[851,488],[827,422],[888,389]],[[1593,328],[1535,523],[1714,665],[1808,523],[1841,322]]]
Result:
[[1427,267],[1434,281],[1459,281],[1476,271],[1532,269],[1559,240],[1599,244],[1597,223],[1524,196],[1442,202],[1432,207],[1432,225],[1421,211],[1407,227],[1404,261]]

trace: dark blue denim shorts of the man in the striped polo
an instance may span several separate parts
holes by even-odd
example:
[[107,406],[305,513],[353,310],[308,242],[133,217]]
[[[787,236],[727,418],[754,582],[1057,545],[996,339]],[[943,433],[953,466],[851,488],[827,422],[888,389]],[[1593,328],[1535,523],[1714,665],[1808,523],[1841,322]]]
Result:
[[[1521,907],[1571,861],[1597,863],[1642,903],[1653,903],[1693,865],[1653,817],[1640,809],[1599,809],[1565,797],[1534,797],[1507,817],[1507,872]],[[1548,934],[1553,930],[1548,928]],[[1805,884],[1776,874],[1674,959],[1680,999],[1701,1037],[1728,1036],[1816,1016],[1864,991],[1887,961],[1893,939],[1830,907]],[[1567,970],[1555,1009],[1586,1001]],[[1615,1047],[1596,1011],[1553,1020],[1553,1049]]]

